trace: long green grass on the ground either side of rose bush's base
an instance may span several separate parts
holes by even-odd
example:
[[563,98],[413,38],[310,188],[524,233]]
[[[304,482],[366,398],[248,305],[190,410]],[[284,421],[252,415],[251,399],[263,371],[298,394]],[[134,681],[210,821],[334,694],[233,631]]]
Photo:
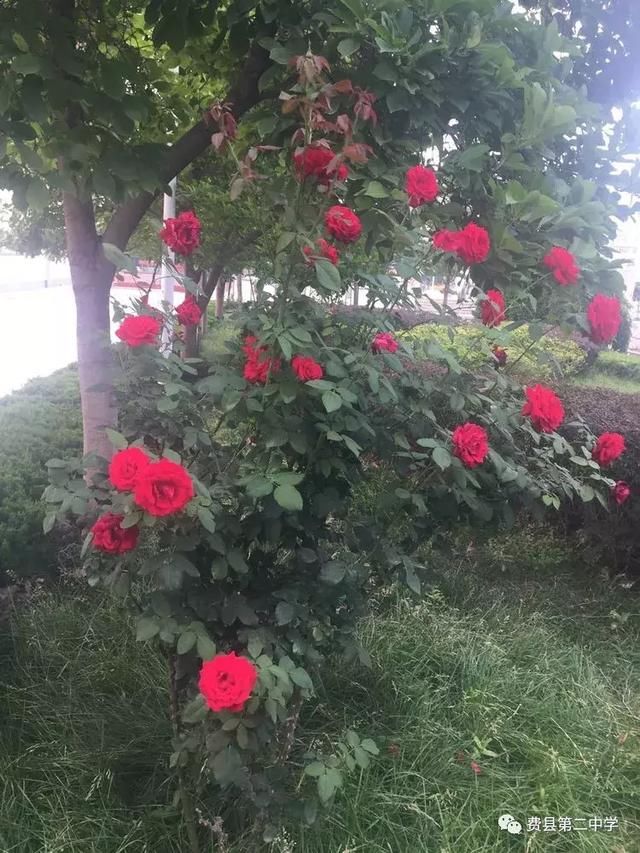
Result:
[[[327,668],[306,734],[353,727],[381,757],[270,853],[637,853],[637,602],[546,531],[457,550],[430,555],[424,600],[392,592],[363,622],[371,671]],[[165,782],[163,661],[77,589],[40,594],[4,627],[2,853],[186,850]],[[500,832],[504,812],[621,826],[525,839]]]

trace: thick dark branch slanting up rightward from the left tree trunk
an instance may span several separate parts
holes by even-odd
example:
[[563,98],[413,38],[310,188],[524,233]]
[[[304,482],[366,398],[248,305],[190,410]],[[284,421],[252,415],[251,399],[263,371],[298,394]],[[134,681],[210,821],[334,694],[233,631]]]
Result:
[[[257,42],[253,42],[244,66],[225,98],[225,101],[231,104],[236,119],[240,119],[261,100],[258,81],[270,65],[269,52],[260,47]],[[201,120],[169,149],[161,171],[162,180],[168,183],[175,178],[186,166],[203,154],[210,144],[211,127]],[[155,193],[141,193],[120,205],[104,232],[104,242],[113,243],[124,250],[138,223],[159,194],[160,190]]]

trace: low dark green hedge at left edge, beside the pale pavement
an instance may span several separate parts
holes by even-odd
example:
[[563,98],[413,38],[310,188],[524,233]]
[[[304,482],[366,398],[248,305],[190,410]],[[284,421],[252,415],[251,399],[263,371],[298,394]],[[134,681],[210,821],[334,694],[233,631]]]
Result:
[[45,462],[81,448],[75,368],[35,379],[0,400],[0,580],[8,572],[42,576],[55,567],[59,541],[42,532]]

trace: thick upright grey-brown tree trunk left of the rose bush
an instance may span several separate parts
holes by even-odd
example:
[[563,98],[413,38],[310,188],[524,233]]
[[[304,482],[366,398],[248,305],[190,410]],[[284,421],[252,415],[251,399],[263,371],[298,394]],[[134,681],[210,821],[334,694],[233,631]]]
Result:
[[65,194],[64,215],[76,302],[84,452],[109,459],[113,448],[105,427],[114,427],[117,419],[109,323],[109,292],[114,268],[103,255],[91,202]]

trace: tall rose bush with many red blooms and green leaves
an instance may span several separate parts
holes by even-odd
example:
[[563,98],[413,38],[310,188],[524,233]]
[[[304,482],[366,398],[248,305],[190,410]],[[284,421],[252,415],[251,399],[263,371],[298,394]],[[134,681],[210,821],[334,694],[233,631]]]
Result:
[[[407,177],[411,163],[388,194],[368,190],[369,199],[388,199],[379,209],[361,216],[342,203],[348,190],[331,175],[345,160],[355,172],[373,159],[368,143],[354,141],[348,111],[377,126],[374,99],[349,81],[331,83],[321,57],[290,65],[299,78],[283,97],[288,133],[294,116],[299,126],[273,195],[282,232],[271,286],[258,288],[236,340],[210,363],[183,357],[175,314],[163,318],[172,337],[164,352],[140,345],[147,331],[121,334],[120,431],[110,432],[117,452],[110,464],[54,460],[45,495],[49,520],[69,511],[83,518],[89,582],[130,594],[138,638],[168,658],[171,767],[194,850],[194,796],[208,808],[212,790],[221,792],[223,809],[268,841],[274,822],[312,822],[343,774],[368,766],[377,753],[370,739],[349,731],[334,743],[308,742],[300,710],[327,660],[366,663],[356,625],[373,588],[398,582],[420,593],[427,569],[419,546],[460,521],[510,524],[520,509],[541,513],[562,500],[607,506],[614,486],[586,444],[557,433],[564,409],[551,389],[525,392],[495,369],[469,373],[437,345],[425,363],[396,338],[393,309],[412,304],[408,282],[432,244],[482,276],[481,265],[493,263],[489,223],[455,229],[451,208],[438,210],[435,197],[428,209],[413,205],[433,192],[422,173],[419,182],[415,172]],[[336,101],[342,130],[332,120]],[[330,152],[314,137],[325,132],[338,137]],[[301,138],[302,153],[294,148]],[[351,172],[344,177],[352,181]],[[249,180],[246,169],[239,179]],[[195,242],[190,223],[183,249]],[[338,265],[322,250],[324,229],[345,244]],[[425,229],[436,236],[425,239]],[[165,232],[173,240],[177,228]],[[384,265],[362,271],[368,308],[350,315],[336,302],[347,287],[343,261],[361,239],[378,240]],[[319,255],[305,252],[310,246]],[[541,247],[532,266],[543,257]],[[197,298],[194,283],[184,283]],[[483,301],[494,306],[491,327],[509,307],[495,293],[502,301],[491,291]],[[563,322],[585,325],[578,309],[568,304]],[[138,312],[123,327],[150,329],[153,320],[155,340],[159,318],[142,302]],[[506,341],[509,329],[486,334]],[[349,515],[353,484],[381,464],[394,517],[406,522],[389,536]]]

